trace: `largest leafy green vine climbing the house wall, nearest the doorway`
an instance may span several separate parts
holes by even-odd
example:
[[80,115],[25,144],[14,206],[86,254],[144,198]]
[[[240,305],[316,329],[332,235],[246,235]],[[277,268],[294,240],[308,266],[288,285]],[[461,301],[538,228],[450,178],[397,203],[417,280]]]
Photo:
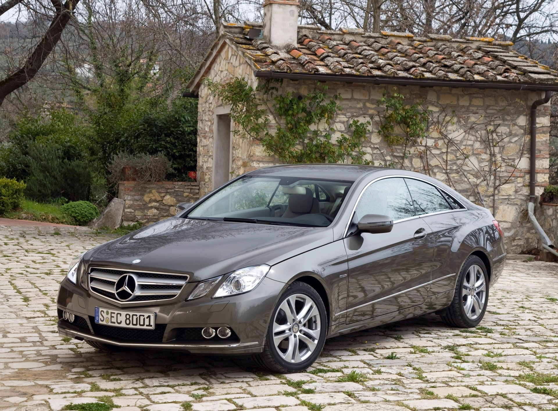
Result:
[[[244,131],[262,142],[268,154],[283,163],[373,164],[365,159],[362,143],[372,122],[353,119],[352,134],[335,136],[331,126],[342,111],[341,97],[327,97],[327,87],[318,84],[306,95],[279,93],[275,83],[264,82],[254,90],[244,79],[226,83],[206,80],[211,92],[224,104],[230,104],[230,117]],[[269,127],[275,117],[275,127]],[[336,137],[336,138],[335,138]]]

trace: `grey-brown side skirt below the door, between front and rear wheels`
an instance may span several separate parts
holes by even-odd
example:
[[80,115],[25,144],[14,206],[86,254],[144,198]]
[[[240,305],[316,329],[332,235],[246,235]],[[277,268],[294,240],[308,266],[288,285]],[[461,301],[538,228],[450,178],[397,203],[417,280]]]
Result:
[[393,313],[383,314],[383,316],[369,318],[364,321],[359,321],[358,323],[334,324],[328,328],[328,338],[439,311],[449,307],[454,293],[455,290],[448,290],[443,293],[430,295],[423,304],[415,305],[415,307],[409,307]]

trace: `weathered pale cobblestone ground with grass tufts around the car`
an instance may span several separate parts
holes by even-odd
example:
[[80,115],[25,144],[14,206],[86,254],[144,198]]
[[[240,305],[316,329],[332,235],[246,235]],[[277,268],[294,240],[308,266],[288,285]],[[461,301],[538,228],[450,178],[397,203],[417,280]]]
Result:
[[[328,340],[308,372],[156,351],[103,353],[56,332],[85,228],[0,227],[0,408],[105,411],[558,410],[558,265],[510,258],[476,329],[436,316]],[[89,403],[89,404],[88,404]]]

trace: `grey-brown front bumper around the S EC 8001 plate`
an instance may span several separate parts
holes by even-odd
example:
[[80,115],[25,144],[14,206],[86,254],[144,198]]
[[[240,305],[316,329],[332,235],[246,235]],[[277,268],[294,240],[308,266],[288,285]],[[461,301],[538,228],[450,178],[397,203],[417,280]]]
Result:
[[[263,350],[271,311],[285,286],[265,278],[255,290],[233,297],[184,301],[181,293],[166,302],[138,303],[131,307],[91,294],[64,279],[56,302],[57,327],[64,336],[120,347],[207,354],[257,353]],[[138,331],[95,324],[95,307],[154,312],[155,329]],[[74,322],[63,319],[62,311],[74,314]],[[227,339],[206,340],[201,337],[203,327],[229,327],[233,333]]]

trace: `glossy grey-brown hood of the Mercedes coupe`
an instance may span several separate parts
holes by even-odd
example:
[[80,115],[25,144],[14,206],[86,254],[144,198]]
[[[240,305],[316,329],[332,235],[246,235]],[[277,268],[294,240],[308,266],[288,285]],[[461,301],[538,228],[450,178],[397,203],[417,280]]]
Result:
[[331,241],[331,228],[175,217],[86,252],[84,263],[86,269],[180,273],[200,281],[250,265],[273,265]]

